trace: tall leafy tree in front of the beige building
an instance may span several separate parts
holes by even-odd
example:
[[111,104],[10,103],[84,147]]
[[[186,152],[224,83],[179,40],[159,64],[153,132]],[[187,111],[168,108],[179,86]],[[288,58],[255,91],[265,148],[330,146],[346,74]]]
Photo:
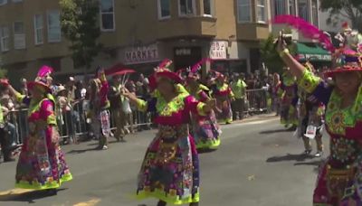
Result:
[[61,0],[62,33],[71,42],[74,67],[90,69],[93,58],[101,50],[97,42],[100,37],[99,1],[97,0]]

